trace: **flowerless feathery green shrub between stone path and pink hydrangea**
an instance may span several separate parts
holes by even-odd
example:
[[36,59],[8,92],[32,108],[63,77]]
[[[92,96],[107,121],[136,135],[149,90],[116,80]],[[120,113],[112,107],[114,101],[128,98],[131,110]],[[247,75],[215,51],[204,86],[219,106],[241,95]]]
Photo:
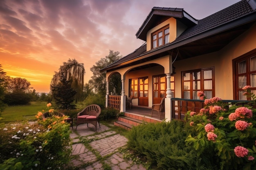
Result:
[[202,165],[192,146],[185,139],[190,126],[182,121],[148,123],[133,127],[127,134],[128,147],[144,155],[152,165],[168,170],[211,170]]

